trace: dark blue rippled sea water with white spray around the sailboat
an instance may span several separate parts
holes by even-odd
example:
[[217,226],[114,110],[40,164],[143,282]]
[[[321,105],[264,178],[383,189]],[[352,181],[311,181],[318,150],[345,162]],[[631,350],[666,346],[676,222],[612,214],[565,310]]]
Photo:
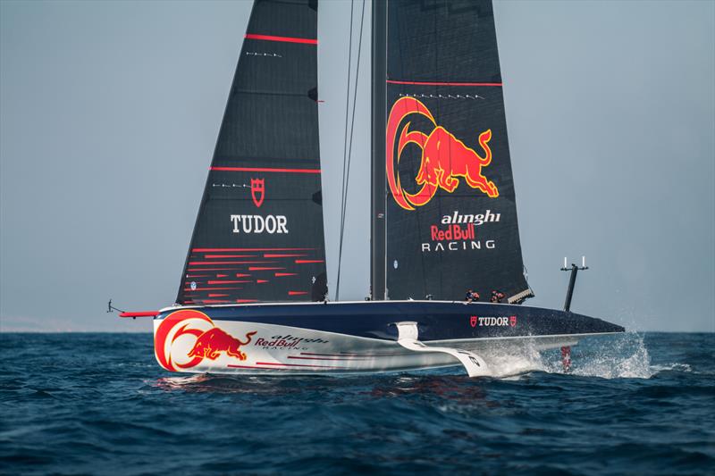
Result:
[[4,474],[713,474],[715,334],[458,368],[172,374],[144,334],[0,334]]

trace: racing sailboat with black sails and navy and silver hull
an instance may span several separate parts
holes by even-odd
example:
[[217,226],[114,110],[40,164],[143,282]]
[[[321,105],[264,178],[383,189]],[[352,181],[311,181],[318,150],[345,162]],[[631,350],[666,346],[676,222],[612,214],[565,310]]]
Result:
[[317,11],[316,0],[253,6],[176,304],[121,314],[154,316],[158,363],[483,376],[496,349],[622,332],[568,304],[522,305],[534,294],[489,0],[374,1],[371,296],[327,300]]

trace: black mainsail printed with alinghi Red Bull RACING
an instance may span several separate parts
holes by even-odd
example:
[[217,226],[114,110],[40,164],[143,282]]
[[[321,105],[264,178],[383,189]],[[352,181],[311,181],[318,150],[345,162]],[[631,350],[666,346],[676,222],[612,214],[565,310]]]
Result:
[[504,302],[523,273],[491,1],[391,0],[388,296]]

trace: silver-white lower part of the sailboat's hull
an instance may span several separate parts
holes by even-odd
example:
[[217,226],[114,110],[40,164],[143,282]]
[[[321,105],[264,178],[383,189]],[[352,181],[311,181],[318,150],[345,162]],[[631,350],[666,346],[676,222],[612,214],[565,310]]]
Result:
[[[161,323],[155,321],[155,335],[158,335]],[[400,372],[460,365],[452,355],[409,350],[392,340],[256,322],[197,320],[189,324],[189,327],[176,325],[165,338],[156,339],[157,361],[167,370],[260,375],[335,374]],[[235,347],[231,350],[231,344],[227,345],[225,340],[208,347],[206,343],[198,343],[202,332],[214,328],[240,340],[238,352]],[[574,346],[581,337],[585,336],[473,338],[425,344],[467,350],[482,356],[494,353],[523,355],[526,351]],[[162,352],[164,354],[160,355]]]

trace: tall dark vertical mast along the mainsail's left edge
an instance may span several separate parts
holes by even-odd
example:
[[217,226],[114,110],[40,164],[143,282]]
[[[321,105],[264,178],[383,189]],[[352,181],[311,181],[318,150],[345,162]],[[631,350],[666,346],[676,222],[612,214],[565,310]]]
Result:
[[373,0],[370,295],[385,298],[385,98],[387,0]]

